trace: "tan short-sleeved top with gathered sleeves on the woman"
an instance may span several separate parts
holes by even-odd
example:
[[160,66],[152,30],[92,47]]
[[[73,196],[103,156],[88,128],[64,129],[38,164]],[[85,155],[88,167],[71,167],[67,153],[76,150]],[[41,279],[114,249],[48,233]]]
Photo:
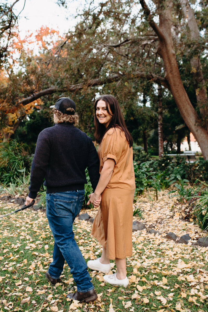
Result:
[[107,188],[135,189],[135,177],[133,169],[133,149],[129,148],[124,132],[119,128],[111,128],[104,135],[99,148],[100,173],[106,159],[115,160],[110,182]]

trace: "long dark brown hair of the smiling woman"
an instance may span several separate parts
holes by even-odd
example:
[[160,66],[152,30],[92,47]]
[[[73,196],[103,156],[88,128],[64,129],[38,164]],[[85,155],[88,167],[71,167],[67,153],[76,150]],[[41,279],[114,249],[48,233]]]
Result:
[[[100,124],[97,117],[96,117],[96,107],[97,107],[97,103],[98,101],[103,100],[106,104],[106,110],[107,112],[112,116],[112,118],[110,119],[110,122],[107,126],[107,128],[105,128],[104,124]],[[109,112],[109,109],[111,110],[112,114]],[[125,137],[128,141],[129,147],[131,147],[133,145],[133,139],[131,134],[128,132],[128,129],[126,127],[120,106],[118,101],[116,100],[116,98],[114,98],[113,95],[101,95],[94,103],[94,137],[96,139],[96,141],[100,144],[100,142],[102,141],[104,134],[110,129],[110,128],[120,128],[121,130],[123,130]]]

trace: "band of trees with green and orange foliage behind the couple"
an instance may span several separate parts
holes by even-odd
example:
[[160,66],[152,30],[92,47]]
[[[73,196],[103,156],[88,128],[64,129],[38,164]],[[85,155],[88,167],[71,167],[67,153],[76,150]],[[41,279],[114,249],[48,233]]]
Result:
[[2,140],[35,141],[59,96],[75,101],[80,129],[93,136],[94,100],[110,93],[145,151],[161,155],[166,141],[180,152],[191,131],[208,159],[207,1],[86,2],[65,36],[37,32],[38,53],[18,36],[16,2],[0,6]]

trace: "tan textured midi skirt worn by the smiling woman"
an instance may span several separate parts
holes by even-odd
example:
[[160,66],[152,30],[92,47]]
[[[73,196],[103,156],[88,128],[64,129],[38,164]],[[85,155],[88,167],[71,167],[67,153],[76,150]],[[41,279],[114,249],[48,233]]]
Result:
[[91,234],[106,248],[108,259],[132,255],[134,190],[105,188]]

